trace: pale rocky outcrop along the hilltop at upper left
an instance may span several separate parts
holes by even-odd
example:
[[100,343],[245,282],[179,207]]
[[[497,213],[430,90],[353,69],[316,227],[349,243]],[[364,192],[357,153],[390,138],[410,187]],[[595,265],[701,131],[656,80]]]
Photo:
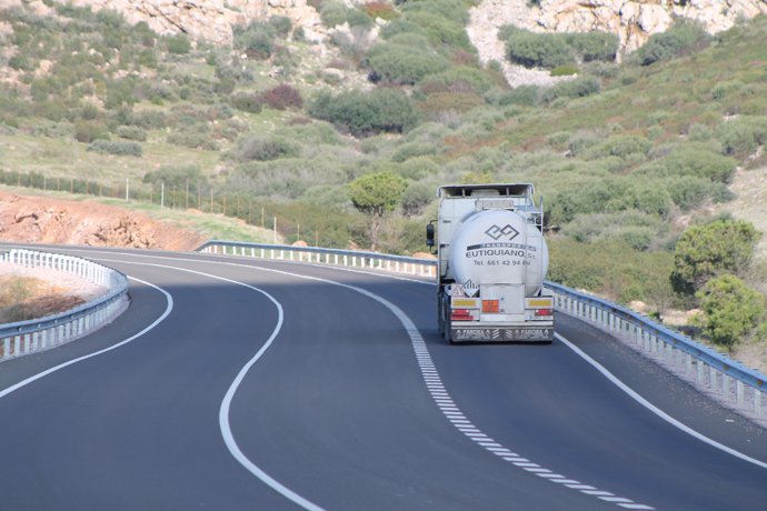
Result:
[[320,19],[306,0],[73,0],[93,10],[113,9],[130,23],[145,21],[160,34],[188,33],[217,44],[231,44],[232,26],[267,20],[272,16],[290,18],[302,27],[307,39],[318,39]]

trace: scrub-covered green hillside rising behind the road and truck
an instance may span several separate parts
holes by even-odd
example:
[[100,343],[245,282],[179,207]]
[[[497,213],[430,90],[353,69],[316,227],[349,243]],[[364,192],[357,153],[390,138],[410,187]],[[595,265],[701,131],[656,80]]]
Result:
[[[616,33],[505,26],[501,64],[482,63],[459,0],[317,2],[321,43],[270,16],[230,27],[231,47],[83,3],[0,11],[6,184],[370,247],[348,184],[388,172],[407,187],[378,249],[408,253],[437,186],[530,181],[550,277],[661,315],[698,304],[669,279],[688,228],[727,211],[764,226],[764,17],[716,36],[680,21],[625,54]],[[511,88],[509,66],[546,87]],[[737,273],[764,292],[764,267]]]

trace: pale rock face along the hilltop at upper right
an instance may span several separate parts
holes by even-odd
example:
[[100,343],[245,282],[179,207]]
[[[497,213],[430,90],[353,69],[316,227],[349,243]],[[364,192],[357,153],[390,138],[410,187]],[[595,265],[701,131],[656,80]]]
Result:
[[631,52],[647,39],[668,29],[675,18],[700,22],[716,33],[740,18],[767,13],[767,0],[485,0],[470,10],[469,37],[482,61],[504,60],[498,27],[514,24],[537,32],[616,33],[620,54]]

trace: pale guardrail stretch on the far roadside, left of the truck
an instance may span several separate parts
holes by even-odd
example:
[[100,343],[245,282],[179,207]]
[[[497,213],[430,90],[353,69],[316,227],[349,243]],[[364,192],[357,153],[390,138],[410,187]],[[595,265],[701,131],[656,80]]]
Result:
[[437,277],[437,261],[434,259],[388,255],[378,252],[322,249],[317,247],[292,247],[286,244],[246,243],[212,240],[197,249],[198,252],[220,255],[263,259],[271,261],[307,262],[346,268],[359,268],[404,273],[415,277]]

